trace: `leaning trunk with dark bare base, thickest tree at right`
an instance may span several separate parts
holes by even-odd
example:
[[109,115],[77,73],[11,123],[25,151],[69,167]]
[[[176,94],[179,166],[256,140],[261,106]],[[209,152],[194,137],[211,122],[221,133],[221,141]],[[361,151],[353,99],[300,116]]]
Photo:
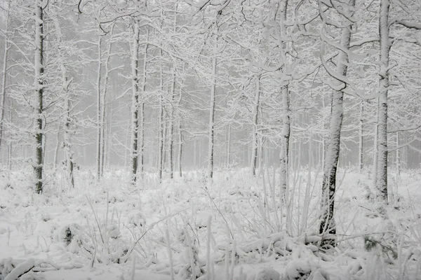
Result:
[[[349,0],[350,7],[355,6],[355,0]],[[342,29],[340,44],[345,50],[349,49],[351,41],[350,27]],[[342,76],[347,76],[348,56],[345,52],[340,52],[336,71]],[[322,246],[336,246],[335,235],[336,225],[333,214],[335,211],[335,193],[336,193],[336,172],[340,153],[340,131],[342,129],[343,119],[343,92],[336,91],[332,94],[332,109],[330,115],[330,128],[328,146],[326,147],[326,163],[323,170],[323,186],[321,199],[321,223],[319,232],[330,235],[323,237]]]

